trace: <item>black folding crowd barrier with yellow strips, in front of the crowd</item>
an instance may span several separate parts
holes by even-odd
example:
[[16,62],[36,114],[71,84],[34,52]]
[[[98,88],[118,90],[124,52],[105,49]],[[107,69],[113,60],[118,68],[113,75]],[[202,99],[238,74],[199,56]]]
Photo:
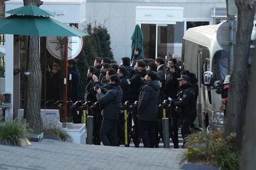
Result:
[[[47,108],[60,109],[62,101],[47,101]],[[135,147],[140,146],[141,137],[138,128],[137,117],[138,101],[134,103],[125,102],[120,114],[118,133],[118,144],[124,144],[129,147],[133,142]],[[87,128],[87,144],[101,144],[99,131],[102,123],[101,105],[99,102],[82,103],[77,101],[67,101],[67,116],[73,123],[85,123]],[[169,148],[169,139],[172,139],[174,148],[178,148],[178,118],[175,108],[165,100],[161,105],[158,105],[157,120],[155,121],[155,144],[154,147],[159,147],[162,139],[164,147]],[[142,145],[142,144],[141,144]]]

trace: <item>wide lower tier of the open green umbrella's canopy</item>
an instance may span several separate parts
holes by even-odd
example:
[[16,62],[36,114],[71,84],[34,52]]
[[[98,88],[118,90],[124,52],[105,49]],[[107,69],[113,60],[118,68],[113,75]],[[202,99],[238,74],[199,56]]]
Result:
[[88,35],[49,17],[11,15],[0,19],[0,34],[28,35],[35,37]]

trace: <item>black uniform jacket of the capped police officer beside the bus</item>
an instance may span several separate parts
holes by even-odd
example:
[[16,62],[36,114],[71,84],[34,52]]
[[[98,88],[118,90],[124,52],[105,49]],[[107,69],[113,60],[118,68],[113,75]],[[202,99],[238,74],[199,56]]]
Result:
[[178,93],[178,99],[174,102],[174,106],[178,107],[178,112],[182,116],[195,116],[195,94],[192,90],[190,82],[181,85]]

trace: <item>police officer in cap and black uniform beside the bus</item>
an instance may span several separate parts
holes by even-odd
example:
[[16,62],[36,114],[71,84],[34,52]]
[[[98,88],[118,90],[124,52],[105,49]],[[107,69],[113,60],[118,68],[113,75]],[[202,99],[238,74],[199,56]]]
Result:
[[190,77],[182,75],[179,80],[178,99],[172,100],[171,104],[177,106],[178,113],[183,118],[183,124],[181,126],[181,135],[183,138],[183,146],[185,144],[184,138],[191,134],[190,128],[193,127],[193,122],[196,118],[196,106],[195,95],[190,83]]

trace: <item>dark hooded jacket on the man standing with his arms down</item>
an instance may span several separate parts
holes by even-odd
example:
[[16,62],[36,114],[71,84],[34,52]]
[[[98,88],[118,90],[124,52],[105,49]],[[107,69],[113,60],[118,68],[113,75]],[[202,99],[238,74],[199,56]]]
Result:
[[157,119],[157,102],[160,85],[157,80],[148,81],[140,91],[138,102],[138,119],[154,121]]

